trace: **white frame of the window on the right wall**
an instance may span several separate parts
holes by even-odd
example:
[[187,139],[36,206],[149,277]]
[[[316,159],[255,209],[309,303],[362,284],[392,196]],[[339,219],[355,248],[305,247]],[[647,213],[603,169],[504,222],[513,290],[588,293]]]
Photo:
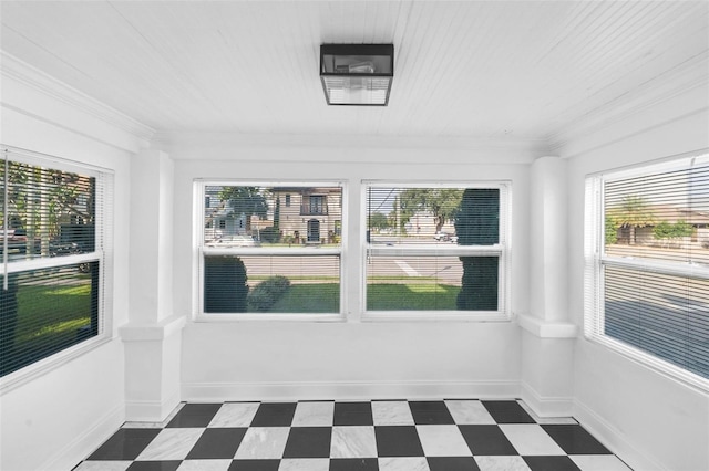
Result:
[[588,174],[585,177],[584,221],[584,337],[609,348],[637,364],[686,385],[709,391],[709,378],[689,371],[649,352],[616,339],[605,333],[604,269],[617,268],[634,272],[709,280],[709,266],[667,262],[650,258],[634,259],[609,255],[605,250],[605,184],[625,178],[655,175],[688,168],[700,159],[709,163],[709,149],[677,155],[650,163]]

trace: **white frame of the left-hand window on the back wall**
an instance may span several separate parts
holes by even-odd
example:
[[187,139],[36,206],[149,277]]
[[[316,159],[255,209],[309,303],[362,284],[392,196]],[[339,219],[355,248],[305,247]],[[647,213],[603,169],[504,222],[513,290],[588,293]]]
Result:
[[[194,268],[196,275],[193,276],[193,314],[195,322],[264,322],[264,321],[284,321],[284,322],[342,322],[346,320],[347,310],[347,289],[346,289],[346,260],[347,260],[347,242],[346,236],[342,234],[339,248],[208,248],[204,241],[205,224],[205,189],[208,186],[248,186],[248,187],[339,187],[341,190],[341,221],[347,224],[348,207],[347,207],[347,185],[342,180],[318,179],[318,180],[249,180],[249,179],[214,179],[214,178],[195,178],[193,180],[193,201],[194,207]],[[292,207],[291,193],[286,195]],[[203,203],[199,205],[199,201]],[[302,205],[302,201],[301,203]],[[301,208],[298,208],[300,212]],[[300,255],[319,255],[319,257],[339,257],[339,290],[340,303],[337,313],[205,313],[204,312],[204,260],[205,255],[251,255],[251,257],[300,257]]]

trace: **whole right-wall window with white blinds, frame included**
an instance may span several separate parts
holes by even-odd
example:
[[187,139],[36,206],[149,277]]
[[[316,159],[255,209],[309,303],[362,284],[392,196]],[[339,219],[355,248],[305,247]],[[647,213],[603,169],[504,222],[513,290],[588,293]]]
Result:
[[709,155],[586,182],[586,335],[709,386]]

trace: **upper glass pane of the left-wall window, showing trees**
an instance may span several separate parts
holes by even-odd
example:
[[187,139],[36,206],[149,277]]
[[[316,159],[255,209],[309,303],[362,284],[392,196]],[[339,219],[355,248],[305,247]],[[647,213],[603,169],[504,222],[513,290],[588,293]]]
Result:
[[[8,168],[8,227],[0,191],[0,233],[10,262],[94,251],[95,178],[12,160]],[[0,180],[4,171],[0,165]]]

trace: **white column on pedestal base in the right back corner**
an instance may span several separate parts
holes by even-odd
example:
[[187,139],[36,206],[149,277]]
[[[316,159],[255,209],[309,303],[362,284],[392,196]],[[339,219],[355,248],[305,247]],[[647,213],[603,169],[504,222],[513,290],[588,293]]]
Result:
[[573,353],[577,328],[567,313],[566,163],[541,157],[531,168],[530,314],[522,326],[522,398],[540,416],[573,410]]

